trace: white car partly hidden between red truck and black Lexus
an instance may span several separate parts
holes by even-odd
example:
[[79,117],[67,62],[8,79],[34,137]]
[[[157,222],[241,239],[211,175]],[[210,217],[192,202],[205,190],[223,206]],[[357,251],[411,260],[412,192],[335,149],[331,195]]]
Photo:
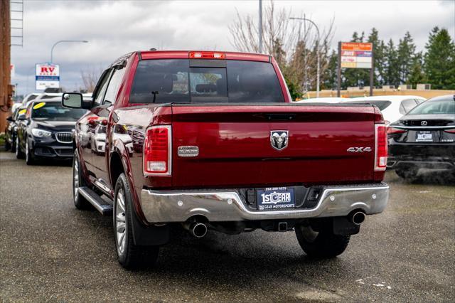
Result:
[[419,96],[373,96],[346,100],[346,102],[353,104],[368,102],[376,105],[382,112],[385,124],[397,121],[402,115],[406,115],[407,112],[424,101],[425,99]]

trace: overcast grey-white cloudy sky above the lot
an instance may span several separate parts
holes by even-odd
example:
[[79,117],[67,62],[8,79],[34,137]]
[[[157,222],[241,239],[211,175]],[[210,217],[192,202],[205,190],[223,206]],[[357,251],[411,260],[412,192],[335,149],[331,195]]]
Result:
[[[11,46],[18,93],[34,90],[34,66],[60,64],[60,85],[82,86],[81,70],[100,70],[132,50],[159,48],[235,50],[228,26],[241,15],[257,18],[258,1],[27,1],[24,0],[23,47]],[[380,38],[396,43],[410,31],[418,50],[434,26],[455,37],[455,0],[446,1],[276,1],[278,9],[306,14],[319,27],[335,18],[333,47],[353,31],[378,28]],[[264,6],[267,1],[264,1]],[[11,18],[14,18],[12,15]]]

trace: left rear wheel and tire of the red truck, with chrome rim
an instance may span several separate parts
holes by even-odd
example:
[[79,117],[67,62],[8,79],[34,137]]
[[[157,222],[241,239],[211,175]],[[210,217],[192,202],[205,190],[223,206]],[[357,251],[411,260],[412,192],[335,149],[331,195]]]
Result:
[[139,246],[134,244],[132,230],[132,193],[125,174],[121,174],[114,192],[114,240],[117,260],[122,267],[132,270],[153,267],[158,260],[159,246]]

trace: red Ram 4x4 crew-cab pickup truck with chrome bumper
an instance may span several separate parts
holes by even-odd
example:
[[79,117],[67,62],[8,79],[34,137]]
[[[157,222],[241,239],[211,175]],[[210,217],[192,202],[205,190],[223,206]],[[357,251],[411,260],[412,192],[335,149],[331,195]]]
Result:
[[77,208],[113,217],[126,268],[153,265],[171,230],[200,238],[295,230],[335,257],[389,187],[387,132],[373,105],[292,104],[274,58],[137,51],[116,60],[74,134]]

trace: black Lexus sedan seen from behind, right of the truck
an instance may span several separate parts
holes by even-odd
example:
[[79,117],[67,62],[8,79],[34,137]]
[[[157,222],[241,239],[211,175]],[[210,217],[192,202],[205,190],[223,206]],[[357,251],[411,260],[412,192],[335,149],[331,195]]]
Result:
[[387,129],[387,166],[403,179],[419,169],[446,169],[455,175],[455,95],[434,97],[414,107]]

